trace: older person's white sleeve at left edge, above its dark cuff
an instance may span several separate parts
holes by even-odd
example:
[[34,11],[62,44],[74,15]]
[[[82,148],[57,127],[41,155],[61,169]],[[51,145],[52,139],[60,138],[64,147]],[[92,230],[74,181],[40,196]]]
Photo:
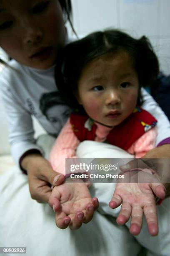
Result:
[[22,105],[17,95],[12,92],[10,85],[3,80],[0,82],[1,96],[8,121],[11,154],[15,163],[19,165],[20,158],[27,151],[34,149],[42,154],[42,149],[35,144],[31,114]]

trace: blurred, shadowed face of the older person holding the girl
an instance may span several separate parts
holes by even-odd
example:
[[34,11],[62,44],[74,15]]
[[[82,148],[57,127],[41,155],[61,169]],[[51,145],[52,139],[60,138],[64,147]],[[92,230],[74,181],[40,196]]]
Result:
[[64,41],[58,0],[0,0],[0,46],[16,61],[47,69]]

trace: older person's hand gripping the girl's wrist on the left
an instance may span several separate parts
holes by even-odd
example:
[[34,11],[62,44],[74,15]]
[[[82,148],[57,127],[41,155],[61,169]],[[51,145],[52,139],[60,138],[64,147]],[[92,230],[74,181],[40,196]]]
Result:
[[64,175],[55,172],[50,163],[39,154],[25,156],[21,166],[28,173],[30,194],[37,202],[48,203],[51,185],[60,185],[65,180]]

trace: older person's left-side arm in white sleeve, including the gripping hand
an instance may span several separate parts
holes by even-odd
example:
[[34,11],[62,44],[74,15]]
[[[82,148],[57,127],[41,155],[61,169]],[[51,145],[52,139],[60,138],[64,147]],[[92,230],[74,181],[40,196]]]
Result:
[[[57,176],[50,163],[43,158],[41,148],[35,144],[31,115],[21,104],[20,98],[12,93],[10,82],[7,80],[10,79],[10,72],[7,77],[2,78],[0,77],[0,89],[8,120],[13,158],[16,164],[21,164],[20,167],[28,173],[32,198],[38,202],[48,202],[51,185],[62,183],[64,176]],[[36,154],[31,153],[35,151]],[[59,178],[56,181],[57,177]]]

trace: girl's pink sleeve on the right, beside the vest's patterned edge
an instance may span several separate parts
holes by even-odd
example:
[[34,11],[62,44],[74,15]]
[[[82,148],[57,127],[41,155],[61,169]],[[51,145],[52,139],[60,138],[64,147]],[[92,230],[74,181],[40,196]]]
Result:
[[132,146],[128,149],[130,154],[135,155],[135,158],[143,157],[148,151],[155,148],[157,136],[157,127],[154,127],[143,134]]

